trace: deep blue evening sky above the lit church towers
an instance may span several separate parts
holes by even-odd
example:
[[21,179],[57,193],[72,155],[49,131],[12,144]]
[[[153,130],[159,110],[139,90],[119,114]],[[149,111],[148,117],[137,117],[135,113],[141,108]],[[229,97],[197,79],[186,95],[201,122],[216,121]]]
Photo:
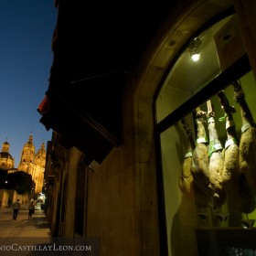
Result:
[[52,131],[39,123],[37,106],[48,89],[57,20],[53,0],[1,0],[0,7],[0,144],[10,144],[16,166],[33,134],[36,151]]

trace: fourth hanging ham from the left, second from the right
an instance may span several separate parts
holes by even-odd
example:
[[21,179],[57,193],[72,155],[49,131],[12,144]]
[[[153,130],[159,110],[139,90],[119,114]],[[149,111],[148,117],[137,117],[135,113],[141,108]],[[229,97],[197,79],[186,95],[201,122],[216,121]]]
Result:
[[224,150],[224,167],[222,173],[222,187],[226,191],[233,208],[240,212],[250,213],[255,208],[255,198],[244,174],[240,170],[240,147],[233,120],[235,108],[229,105],[224,93],[220,91],[219,101],[225,112],[227,141]]

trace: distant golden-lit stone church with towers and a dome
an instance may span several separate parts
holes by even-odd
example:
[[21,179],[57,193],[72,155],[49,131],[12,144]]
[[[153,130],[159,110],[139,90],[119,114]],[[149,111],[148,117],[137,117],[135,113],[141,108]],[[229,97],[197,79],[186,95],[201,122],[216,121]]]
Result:
[[24,144],[22,148],[20,162],[17,168],[15,168],[15,159],[9,153],[9,146],[9,143],[7,142],[2,145],[0,168],[7,170],[8,173],[16,171],[26,172],[32,176],[32,179],[35,182],[35,193],[42,192],[46,164],[45,144],[42,143],[36,153],[35,145],[33,144],[33,136],[30,134],[27,143]]

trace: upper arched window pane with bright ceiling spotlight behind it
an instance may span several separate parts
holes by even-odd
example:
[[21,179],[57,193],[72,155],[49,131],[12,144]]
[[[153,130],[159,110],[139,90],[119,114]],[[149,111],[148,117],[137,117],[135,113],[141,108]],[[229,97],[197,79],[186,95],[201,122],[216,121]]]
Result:
[[[192,54],[199,54],[193,61]],[[176,60],[155,102],[156,122],[200,91],[244,54],[235,16],[229,16],[194,37]]]

